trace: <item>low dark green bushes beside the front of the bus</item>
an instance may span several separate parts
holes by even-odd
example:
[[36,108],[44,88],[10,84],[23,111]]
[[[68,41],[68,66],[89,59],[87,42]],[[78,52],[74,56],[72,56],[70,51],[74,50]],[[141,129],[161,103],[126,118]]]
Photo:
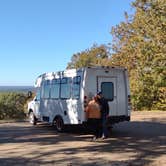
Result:
[[28,96],[24,93],[0,93],[0,120],[23,119]]

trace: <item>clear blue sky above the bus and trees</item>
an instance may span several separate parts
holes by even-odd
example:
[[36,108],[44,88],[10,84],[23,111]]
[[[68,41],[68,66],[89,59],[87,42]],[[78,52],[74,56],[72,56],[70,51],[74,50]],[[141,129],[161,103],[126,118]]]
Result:
[[0,85],[33,85],[74,53],[112,42],[132,0],[0,0]]

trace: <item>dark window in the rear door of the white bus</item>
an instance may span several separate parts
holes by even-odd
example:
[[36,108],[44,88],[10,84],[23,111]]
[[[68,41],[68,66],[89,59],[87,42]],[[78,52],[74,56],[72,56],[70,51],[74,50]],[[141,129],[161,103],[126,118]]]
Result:
[[105,99],[108,101],[114,100],[114,84],[113,82],[102,82],[101,91]]

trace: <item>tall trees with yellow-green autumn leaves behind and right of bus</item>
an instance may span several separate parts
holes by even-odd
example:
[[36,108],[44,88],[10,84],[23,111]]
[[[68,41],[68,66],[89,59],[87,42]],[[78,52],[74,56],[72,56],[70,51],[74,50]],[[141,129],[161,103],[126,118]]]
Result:
[[[134,14],[112,27],[113,43],[72,56],[67,68],[124,66],[134,110],[166,110],[166,1],[135,0]],[[111,51],[110,51],[111,50]]]

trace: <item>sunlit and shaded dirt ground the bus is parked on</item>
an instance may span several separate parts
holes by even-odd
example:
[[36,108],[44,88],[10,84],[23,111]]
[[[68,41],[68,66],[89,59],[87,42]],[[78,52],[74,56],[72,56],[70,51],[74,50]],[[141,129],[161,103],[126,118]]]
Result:
[[80,127],[57,133],[46,124],[0,124],[0,165],[165,166],[166,111],[132,112],[110,138],[92,141]]

